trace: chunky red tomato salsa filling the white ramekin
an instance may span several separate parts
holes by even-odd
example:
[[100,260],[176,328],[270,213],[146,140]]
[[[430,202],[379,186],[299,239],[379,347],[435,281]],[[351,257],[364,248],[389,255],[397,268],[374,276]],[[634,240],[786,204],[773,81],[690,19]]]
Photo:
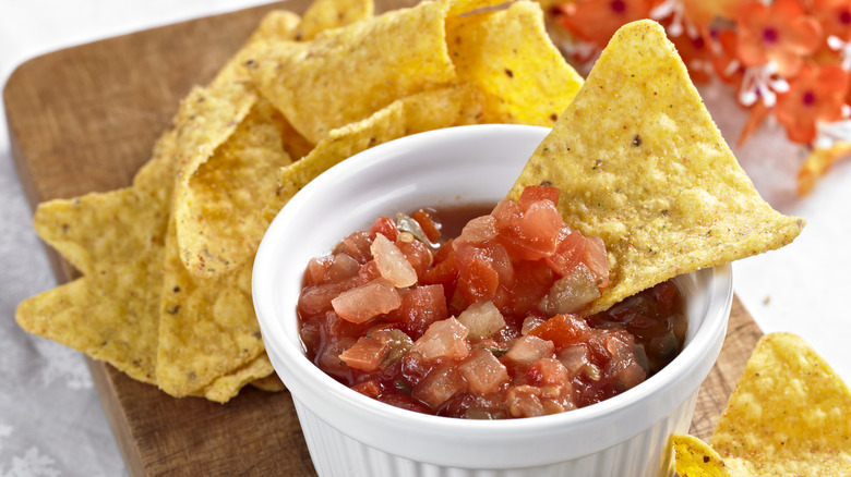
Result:
[[580,317],[608,286],[606,246],[564,223],[558,197],[530,186],[490,213],[421,209],[345,237],[305,271],[309,358],[379,401],[466,418],[561,413],[644,381],[682,350],[680,291]]

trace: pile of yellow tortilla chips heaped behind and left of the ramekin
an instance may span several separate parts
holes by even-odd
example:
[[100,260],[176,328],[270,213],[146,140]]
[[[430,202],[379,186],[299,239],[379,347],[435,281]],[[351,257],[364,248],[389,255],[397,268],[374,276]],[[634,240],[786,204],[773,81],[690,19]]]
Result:
[[38,207],[37,232],[82,277],[24,301],[19,323],[175,396],[281,389],[250,285],[277,210],[335,163],[404,135],[551,126],[582,85],[537,3],[491,3],[375,16],[370,0],[317,0],[302,17],[267,15],[181,101],[131,186]]

